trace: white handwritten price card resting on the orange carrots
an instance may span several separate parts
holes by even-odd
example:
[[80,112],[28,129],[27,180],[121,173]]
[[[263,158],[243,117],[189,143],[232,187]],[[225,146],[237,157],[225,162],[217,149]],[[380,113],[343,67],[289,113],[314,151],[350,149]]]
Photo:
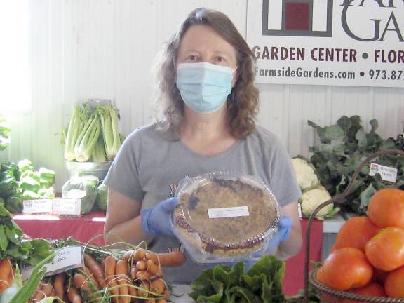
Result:
[[[43,265],[46,267],[45,276],[52,276],[62,271],[83,267],[81,260],[81,246],[69,246],[56,250],[56,255],[52,262]],[[22,269],[22,280],[26,280],[31,275],[33,267]]]

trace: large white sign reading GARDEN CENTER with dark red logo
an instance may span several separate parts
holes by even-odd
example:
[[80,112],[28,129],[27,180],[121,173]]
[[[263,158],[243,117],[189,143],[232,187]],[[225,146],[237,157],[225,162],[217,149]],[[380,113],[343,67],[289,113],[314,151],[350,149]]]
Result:
[[257,83],[404,87],[404,1],[248,0]]

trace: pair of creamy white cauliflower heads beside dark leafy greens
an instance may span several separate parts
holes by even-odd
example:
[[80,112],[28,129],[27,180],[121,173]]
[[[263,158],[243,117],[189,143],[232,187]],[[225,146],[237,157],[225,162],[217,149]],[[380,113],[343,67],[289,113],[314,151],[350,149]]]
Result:
[[[309,189],[304,191],[302,198],[300,198],[299,203],[302,206],[303,217],[310,217],[311,213],[319,206],[321,203],[330,200],[331,196],[325,187],[319,185],[314,189]],[[338,213],[339,208],[334,208],[334,204],[328,204],[321,208],[321,210],[316,214],[318,220],[324,220],[325,217],[332,217]]]

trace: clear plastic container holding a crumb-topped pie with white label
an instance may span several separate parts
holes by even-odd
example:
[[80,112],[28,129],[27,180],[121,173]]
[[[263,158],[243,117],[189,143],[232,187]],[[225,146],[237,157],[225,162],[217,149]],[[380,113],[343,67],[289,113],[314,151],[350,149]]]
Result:
[[[176,197],[173,231],[198,263],[255,261],[278,230],[278,202],[257,177],[229,172],[186,177]],[[273,249],[267,253],[276,253]]]

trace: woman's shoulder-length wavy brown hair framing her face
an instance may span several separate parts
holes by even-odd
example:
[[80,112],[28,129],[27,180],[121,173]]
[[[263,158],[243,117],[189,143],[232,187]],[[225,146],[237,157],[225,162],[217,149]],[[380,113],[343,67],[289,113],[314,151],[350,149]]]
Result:
[[156,60],[156,100],[163,105],[166,128],[178,130],[184,115],[184,102],[177,89],[177,55],[185,32],[192,25],[208,25],[236,50],[237,80],[227,97],[227,124],[231,135],[241,139],[255,130],[258,112],[258,89],[254,86],[255,57],[231,20],[219,11],[197,8],[182,22]]

